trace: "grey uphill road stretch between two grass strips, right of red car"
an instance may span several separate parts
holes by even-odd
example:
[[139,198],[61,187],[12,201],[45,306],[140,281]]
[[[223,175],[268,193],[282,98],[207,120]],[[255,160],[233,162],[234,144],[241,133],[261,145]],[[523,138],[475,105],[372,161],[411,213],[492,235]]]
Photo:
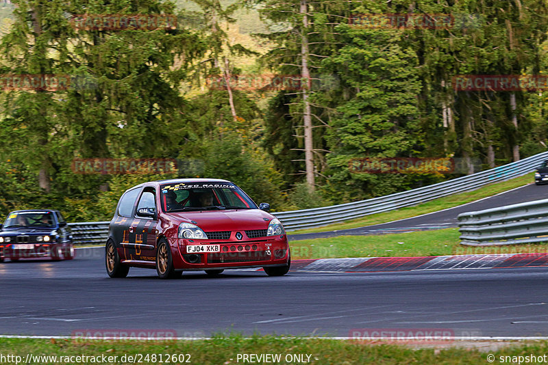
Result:
[[457,217],[460,213],[471,211],[482,211],[484,209],[496,208],[510,204],[531,202],[533,200],[548,199],[548,185],[525,185],[517,189],[512,189],[504,193],[493,195],[492,197],[477,200],[468,204],[462,204],[454,208],[445,209],[412,217],[392,221],[384,224],[375,224],[360,228],[351,228],[348,230],[334,230],[319,233],[288,234],[289,241],[301,239],[320,239],[325,237],[341,235],[364,235],[364,234],[384,234],[395,232],[413,232],[416,230],[438,230],[441,228],[450,228],[458,226]]

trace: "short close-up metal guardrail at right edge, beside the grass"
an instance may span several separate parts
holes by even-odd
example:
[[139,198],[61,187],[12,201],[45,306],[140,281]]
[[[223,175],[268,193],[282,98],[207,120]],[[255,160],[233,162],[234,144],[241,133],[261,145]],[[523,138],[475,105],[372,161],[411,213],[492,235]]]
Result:
[[458,215],[460,243],[515,245],[548,241],[548,199]]

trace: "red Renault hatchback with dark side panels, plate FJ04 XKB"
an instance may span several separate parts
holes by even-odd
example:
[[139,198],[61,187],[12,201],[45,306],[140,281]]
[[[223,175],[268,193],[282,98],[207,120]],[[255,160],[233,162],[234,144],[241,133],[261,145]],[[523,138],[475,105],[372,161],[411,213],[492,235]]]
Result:
[[285,275],[291,265],[284,227],[227,180],[179,179],[127,190],[108,230],[105,264],[111,278],[129,267],[156,269],[162,279],[187,270],[219,275],[225,269],[263,267]]

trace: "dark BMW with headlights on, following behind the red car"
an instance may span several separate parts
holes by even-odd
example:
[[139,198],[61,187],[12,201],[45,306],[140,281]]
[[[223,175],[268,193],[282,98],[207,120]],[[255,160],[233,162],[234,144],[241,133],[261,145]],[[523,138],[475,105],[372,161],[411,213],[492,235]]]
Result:
[[0,230],[0,262],[5,258],[74,258],[71,228],[59,211],[34,209],[8,214]]

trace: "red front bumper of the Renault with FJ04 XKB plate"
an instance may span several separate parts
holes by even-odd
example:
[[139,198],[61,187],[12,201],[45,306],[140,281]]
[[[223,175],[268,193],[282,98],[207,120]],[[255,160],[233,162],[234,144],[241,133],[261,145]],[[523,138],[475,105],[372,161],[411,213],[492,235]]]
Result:
[[[206,270],[234,269],[245,267],[267,267],[287,265],[289,245],[287,236],[260,237],[241,241],[226,240],[171,240],[173,264],[175,269]],[[220,245],[221,252],[190,253],[187,245]],[[197,260],[198,258],[198,260]]]

